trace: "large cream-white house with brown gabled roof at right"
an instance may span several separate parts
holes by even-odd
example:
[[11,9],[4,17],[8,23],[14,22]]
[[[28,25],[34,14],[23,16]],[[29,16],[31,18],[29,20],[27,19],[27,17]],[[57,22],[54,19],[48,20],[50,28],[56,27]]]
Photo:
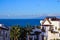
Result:
[[60,19],[56,17],[46,17],[40,21],[41,27],[45,30],[46,40],[60,40]]

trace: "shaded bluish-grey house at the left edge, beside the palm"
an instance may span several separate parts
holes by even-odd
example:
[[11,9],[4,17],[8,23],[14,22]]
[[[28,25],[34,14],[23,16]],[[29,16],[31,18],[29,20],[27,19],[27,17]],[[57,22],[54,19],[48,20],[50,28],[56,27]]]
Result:
[[10,40],[9,27],[0,24],[0,40]]

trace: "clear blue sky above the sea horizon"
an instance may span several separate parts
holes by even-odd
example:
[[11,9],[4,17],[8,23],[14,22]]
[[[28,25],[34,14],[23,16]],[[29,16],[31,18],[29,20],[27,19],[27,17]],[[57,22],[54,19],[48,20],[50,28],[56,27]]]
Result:
[[40,16],[60,16],[60,0],[0,0],[0,19]]

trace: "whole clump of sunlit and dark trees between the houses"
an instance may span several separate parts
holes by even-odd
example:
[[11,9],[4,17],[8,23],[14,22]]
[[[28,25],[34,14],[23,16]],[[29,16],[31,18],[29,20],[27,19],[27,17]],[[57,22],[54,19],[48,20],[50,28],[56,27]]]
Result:
[[26,40],[26,34],[30,34],[31,31],[32,26],[28,24],[25,27],[20,25],[12,26],[10,30],[10,40]]

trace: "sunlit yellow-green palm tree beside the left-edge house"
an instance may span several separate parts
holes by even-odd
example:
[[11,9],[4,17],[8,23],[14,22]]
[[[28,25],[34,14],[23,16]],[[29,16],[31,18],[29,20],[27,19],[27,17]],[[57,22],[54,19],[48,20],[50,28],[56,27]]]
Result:
[[11,40],[18,40],[19,37],[20,37],[20,26],[19,25],[12,26],[10,30]]

